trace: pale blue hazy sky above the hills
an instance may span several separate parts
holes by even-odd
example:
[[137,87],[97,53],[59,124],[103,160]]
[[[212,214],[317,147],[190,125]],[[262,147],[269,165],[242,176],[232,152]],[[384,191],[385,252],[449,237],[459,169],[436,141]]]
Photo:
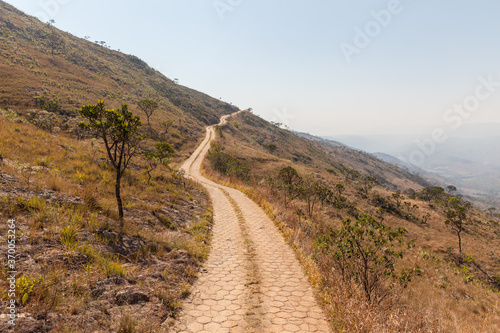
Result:
[[296,130],[500,122],[498,0],[7,2]]

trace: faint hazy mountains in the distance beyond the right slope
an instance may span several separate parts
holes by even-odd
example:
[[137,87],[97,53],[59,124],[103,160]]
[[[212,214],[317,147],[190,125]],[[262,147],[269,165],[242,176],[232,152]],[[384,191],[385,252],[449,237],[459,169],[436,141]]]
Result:
[[485,204],[500,204],[500,124],[472,123],[435,143],[426,136],[353,135],[326,139],[374,154],[381,160],[441,184]]

